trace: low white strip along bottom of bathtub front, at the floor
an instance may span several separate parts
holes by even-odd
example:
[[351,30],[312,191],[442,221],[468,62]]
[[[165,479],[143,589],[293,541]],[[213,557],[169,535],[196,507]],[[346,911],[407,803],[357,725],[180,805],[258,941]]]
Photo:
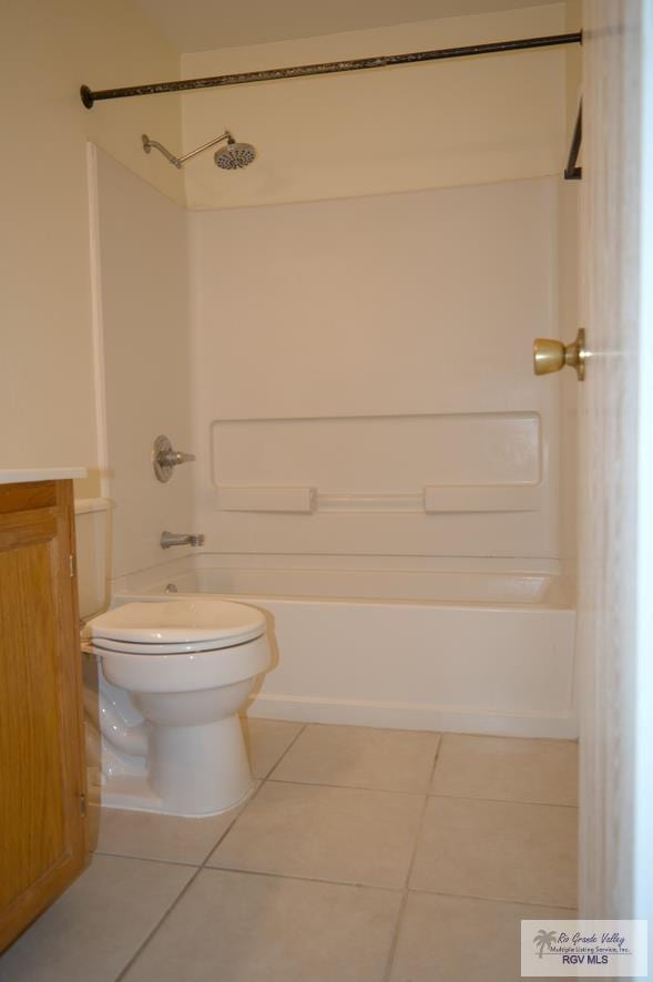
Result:
[[433,733],[578,738],[578,720],[572,713],[564,716],[479,713],[437,705],[259,694],[248,704],[247,715],[300,723],[339,723]]

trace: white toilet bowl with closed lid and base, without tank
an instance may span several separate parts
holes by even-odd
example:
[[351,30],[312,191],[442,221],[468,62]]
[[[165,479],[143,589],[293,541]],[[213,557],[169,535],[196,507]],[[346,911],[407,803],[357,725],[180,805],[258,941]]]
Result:
[[200,816],[249,794],[237,714],[271,665],[261,611],[197,597],[127,603],[88,621],[82,648],[99,662],[103,804]]

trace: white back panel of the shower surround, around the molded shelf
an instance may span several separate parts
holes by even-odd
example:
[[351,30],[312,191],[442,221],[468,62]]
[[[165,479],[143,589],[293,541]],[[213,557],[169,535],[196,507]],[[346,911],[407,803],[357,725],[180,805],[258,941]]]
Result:
[[[208,548],[560,558],[561,380],[534,378],[531,348],[561,330],[569,194],[540,178],[192,215]],[[510,413],[539,422],[535,444]],[[509,431],[488,454],[494,415]],[[356,417],[373,418],[367,436]],[[360,501],[509,482],[539,482],[534,510],[426,515]],[[216,483],[359,498],[314,514],[218,511]]]

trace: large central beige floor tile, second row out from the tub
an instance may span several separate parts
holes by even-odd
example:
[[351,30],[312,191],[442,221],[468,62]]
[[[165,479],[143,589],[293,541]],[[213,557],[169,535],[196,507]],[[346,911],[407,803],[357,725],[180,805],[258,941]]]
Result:
[[420,795],[268,781],[208,866],[401,887],[422,805]]

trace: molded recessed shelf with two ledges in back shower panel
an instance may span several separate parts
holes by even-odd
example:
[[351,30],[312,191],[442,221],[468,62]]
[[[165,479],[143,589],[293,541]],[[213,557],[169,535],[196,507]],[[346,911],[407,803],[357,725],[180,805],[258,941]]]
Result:
[[215,508],[482,513],[542,507],[538,412],[216,420]]

